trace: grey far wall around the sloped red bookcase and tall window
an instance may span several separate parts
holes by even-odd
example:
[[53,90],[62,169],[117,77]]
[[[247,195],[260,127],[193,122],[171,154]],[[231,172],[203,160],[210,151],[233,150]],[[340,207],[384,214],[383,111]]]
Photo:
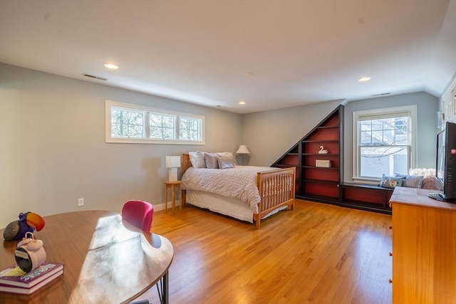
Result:
[[[242,117],[242,142],[251,152],[249,164],[270,166],[309,133],[341,100],[257,112]],[[438,99],[410,93],[347,103],[344,109],[344,182],[353,182],[353,111],[418,105],[418,166],[435,167]]]

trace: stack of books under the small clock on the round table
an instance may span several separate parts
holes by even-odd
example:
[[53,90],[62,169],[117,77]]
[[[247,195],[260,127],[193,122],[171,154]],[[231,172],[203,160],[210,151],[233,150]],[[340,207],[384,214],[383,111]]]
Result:
[[62,263],[43,262],[28,273],[11,266],[0,272],[0,292],[29,295],[62,274]]

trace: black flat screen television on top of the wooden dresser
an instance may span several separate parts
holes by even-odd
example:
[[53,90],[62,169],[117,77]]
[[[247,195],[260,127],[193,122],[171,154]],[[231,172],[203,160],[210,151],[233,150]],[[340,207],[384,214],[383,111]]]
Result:
[[429,196],[456,203],[456,123],[447,122],[445,130],[437,134],[435,176],[443,184],[443,193]]

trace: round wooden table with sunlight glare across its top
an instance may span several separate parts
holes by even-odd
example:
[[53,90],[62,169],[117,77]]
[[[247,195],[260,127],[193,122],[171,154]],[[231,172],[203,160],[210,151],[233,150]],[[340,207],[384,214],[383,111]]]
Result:
[[[136,229],[112,211],[77,211],[45,216],[46,261],[63,263],[63,276],[31,295],[0,293],[0,303],[129,303],[163,278],[174,249],[165,237]],[[0,269],[13,266],[18,241],[0,247]]]

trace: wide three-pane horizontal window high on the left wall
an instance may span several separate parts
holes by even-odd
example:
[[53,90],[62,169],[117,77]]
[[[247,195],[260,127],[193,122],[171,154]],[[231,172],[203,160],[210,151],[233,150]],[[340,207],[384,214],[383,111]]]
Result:
[[106,100],[106,142],[204,145],[204,116]]

